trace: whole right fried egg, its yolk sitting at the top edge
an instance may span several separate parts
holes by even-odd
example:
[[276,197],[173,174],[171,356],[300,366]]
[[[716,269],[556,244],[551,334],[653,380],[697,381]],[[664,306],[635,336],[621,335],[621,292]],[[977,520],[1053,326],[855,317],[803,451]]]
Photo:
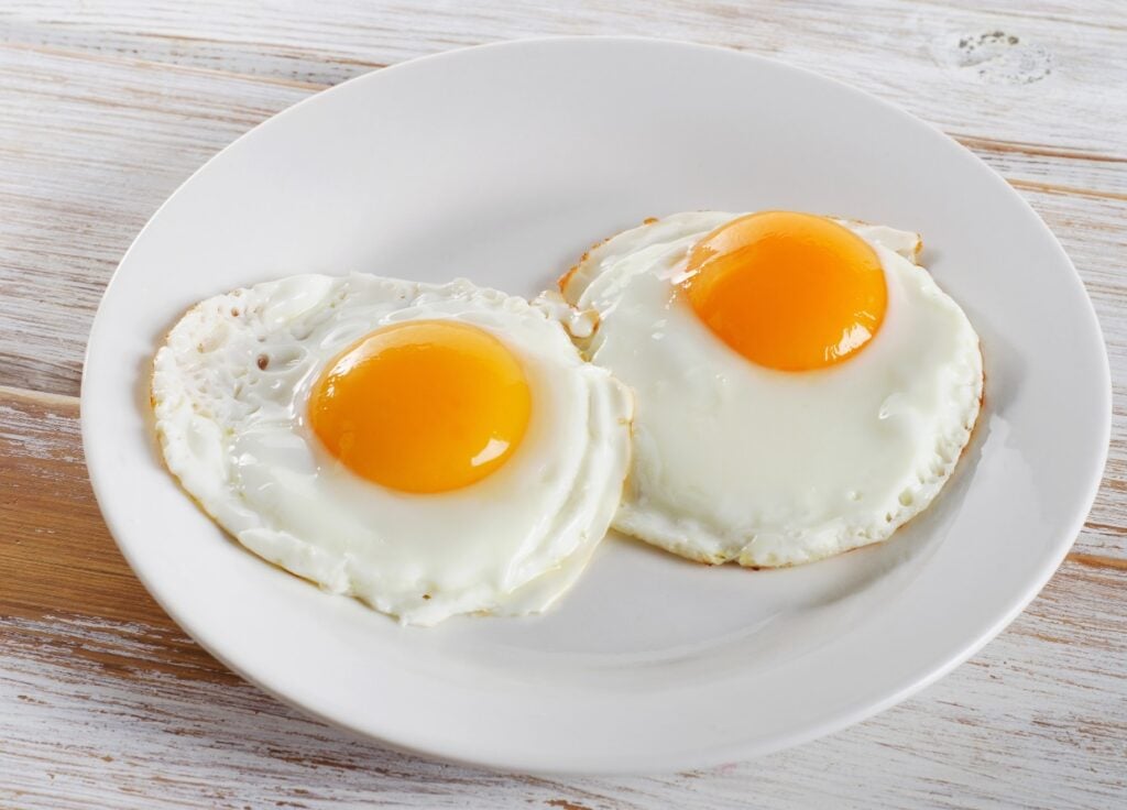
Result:
[[888,537],[970,437],[978,338],[920,239],[811,214],[677,214],[593,248],[565,297],[633,389],[615,528],[706,562],[778,567]]

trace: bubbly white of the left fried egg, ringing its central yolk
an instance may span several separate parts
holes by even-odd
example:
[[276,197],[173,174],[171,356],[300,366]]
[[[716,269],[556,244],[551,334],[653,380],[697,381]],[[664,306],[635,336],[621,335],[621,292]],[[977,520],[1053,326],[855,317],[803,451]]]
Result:
[[[356,477],[305,424],[327,363],[381,326],[417,319],[494,333],[532,395],[508,461],[434,495]],[[199,303],[157,353],[152,401],[168,469],[242,545],[415,624],[539,612],[567,590],[618,506],[632,407],[549,308],[465,281],[367,275],[294,276]]]

